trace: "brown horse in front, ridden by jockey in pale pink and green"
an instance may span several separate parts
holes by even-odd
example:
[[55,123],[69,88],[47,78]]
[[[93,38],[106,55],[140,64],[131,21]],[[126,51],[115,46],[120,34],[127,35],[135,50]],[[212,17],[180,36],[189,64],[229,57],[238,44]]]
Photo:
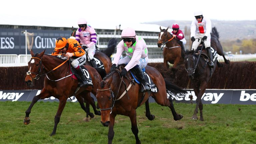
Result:
[[[155,118],[151,115],[149,110],[148,98],[152,96],[156,103],[161,106],[168,106],[171,109],[174,120],[180,120],[183,116],[177,114],[172,98],[167,98],[167,90],[171,91],[173,94],[184,94],[186,91],[175,86],[171,82],[164,80],[159,71],[155,68],[146,66],[146,73],[152,79],[157,87],[157,92],[140,92],[141,86],[134,83],[132,75],[129,73],[126,76],[121,77],[120,72],[125,65],[120,65],[114,71],[111,71],[100,83],[97,89],[96,98],[101,110],[101,123],[103,126],[109,126],[108,131],[108,144],[112,143],[114,138],[114,124],[116,115],[129,116],[132,124],[132,132],[136,139],[136,144],[140,144],[138,138],[138,127],[136,120],[136,109],[143,103],[146,105],[146,117],[149,120]],[[151,85],[152,86],[152,85]],[[152,88],[152,87],[151,87]]]

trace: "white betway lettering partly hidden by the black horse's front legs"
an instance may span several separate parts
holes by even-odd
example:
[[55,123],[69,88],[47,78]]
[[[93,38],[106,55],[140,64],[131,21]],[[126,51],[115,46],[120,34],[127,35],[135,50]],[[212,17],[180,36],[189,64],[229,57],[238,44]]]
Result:
[[[187,94],[185,95],[185,97],[175,97],[176,100],[181,101],[181,100],[185,100],[185,101],[190,101],[189,96],[192,95],[193,96],[193,101],[196,100],[196,94],[194,91],[187,91]],[[202,100],[204,101],[212,101],[212,104],[216,104],[221,97],[224,95],[224,93],[204,93],[202,96]]]

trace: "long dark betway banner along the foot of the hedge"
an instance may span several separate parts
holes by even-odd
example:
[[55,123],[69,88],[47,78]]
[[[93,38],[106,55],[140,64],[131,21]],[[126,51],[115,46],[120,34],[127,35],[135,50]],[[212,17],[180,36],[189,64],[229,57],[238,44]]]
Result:
[[[41,90],[0,90],[0,101],[32,101],[33,97],[40,94]],[[185,97],[175,97],[177,102],[195,103],[196,95],[193,90],[187,90]],[[192,96],[192,97],[191,97]],[[91,94],[95,99],[95,96]],[[191,100],[192,98],[192,100]],[[50,97],[39,101],[59,101],[54,97]],[[71,102],[77,102],[72,96],[68,99]],[[152,97],[150,102],[155,102]],[[245,90],[217,90],[207,89],[202,96],[203,104],[256,104],[256,89]]]

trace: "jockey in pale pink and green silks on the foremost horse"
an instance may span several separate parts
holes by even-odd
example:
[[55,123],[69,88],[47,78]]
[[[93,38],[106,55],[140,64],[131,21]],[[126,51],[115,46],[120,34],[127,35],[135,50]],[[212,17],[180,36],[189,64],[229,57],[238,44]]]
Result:
[[[115,69],[117,65],[127,64],[122,70],[121,76],[125,76],[127,71],[133,68],[141,79],[141,92],[150,90],[141,70],[148,64],[148,49],[146,42],[142,37],[137,36],[135,30],[132,28],[123,29],[121,38],[123,40],[117,45],[116,55],[111,70]],[[123,51],[125,51],[127,56],[120,59]]]

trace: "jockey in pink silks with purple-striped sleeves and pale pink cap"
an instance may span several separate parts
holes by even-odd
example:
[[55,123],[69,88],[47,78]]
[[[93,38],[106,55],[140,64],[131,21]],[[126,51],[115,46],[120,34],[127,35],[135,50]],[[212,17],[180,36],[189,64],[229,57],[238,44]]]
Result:
[[91,61],[93,67],[97,67],[93,58],[96,50],[95,44],[97,41],[97,34],[94,28],[87,25],[87,21],[84,18],[78,20],[78,26],[76,40],[82,44],[82,48],[88,53],[88,61]]

